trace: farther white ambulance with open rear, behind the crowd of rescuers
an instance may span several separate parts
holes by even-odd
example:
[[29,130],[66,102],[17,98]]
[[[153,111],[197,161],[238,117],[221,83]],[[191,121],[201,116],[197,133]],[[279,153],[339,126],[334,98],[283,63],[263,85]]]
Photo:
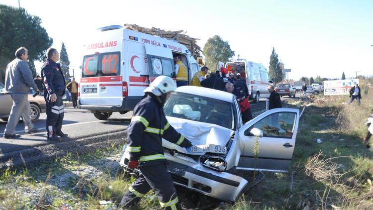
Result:
[[253,99],[255,103],[259,103],[260,98],[270,97],[268,85],[271,85],[273,81],[271,81],[266,67],[262,64],[239,59],[226,63],[225,68],[228,69],[228,72],[235,71],[240,73],[241,77],[246,78],[249,98]]

